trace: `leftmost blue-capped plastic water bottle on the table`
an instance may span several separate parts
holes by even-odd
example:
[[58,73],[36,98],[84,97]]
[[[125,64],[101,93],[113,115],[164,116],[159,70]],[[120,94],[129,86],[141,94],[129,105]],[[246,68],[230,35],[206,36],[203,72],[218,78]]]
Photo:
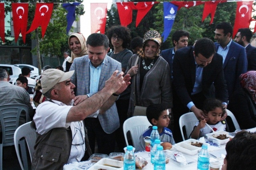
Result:
[[123,159],[123,170],[135,170],[135,155],[133,146],[127,146],[125,157]]

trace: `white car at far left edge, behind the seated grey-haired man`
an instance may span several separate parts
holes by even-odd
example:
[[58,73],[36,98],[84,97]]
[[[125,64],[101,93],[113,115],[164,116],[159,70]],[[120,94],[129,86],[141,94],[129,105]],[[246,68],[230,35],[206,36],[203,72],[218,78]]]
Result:
[[0,64],[0,68],[8,71],[10,74],[10,83],[16,83],[16,79],[18,79],[19,74],[21,74],[21,69],[19,67],[10,64]]

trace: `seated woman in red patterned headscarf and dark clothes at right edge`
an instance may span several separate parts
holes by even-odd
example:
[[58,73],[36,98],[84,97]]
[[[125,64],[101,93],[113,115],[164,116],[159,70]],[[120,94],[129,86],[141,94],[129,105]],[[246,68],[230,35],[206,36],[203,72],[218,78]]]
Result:
[[240,75],[242,88],[230,97],[228,109],[235,115],[241,129],[256,127],[256,71]]

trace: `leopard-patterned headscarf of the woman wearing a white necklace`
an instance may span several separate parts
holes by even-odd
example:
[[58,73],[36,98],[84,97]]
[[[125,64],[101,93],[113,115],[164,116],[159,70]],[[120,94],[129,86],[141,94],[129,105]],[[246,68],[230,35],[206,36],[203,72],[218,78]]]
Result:
[[[145,56],[145,53],[144,53],[144,46],[145,46],[145,42],[148,41],[148,40],[152,40],[152,41],[156,42],[157,45],[158,45],[159,47],[161,47],[161,42],[162,42],[162,40],[161,40],[161,35],[159,34],[159,32],[157,32],[157,31],[155,31],[155,30],[149,30],[149,31],[147,31],[147,32],[145,33],[145,35],[144,35],[142,48],[139,49],[139,51],[137,51],[137,55],[138,55],[139,57],[142,57],[142,58],[145,57],[145,58],[147,58],[147,57]],[[159,56],[160,56],[160,50],[157,51],[155,57],[159,57]]]

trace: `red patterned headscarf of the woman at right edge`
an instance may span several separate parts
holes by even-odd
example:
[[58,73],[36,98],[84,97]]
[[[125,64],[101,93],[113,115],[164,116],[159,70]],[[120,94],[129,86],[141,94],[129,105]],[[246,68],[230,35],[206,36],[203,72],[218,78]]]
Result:
[[241,86],[245,88],[256,103],[256,71],[247,71],[239,76]]

